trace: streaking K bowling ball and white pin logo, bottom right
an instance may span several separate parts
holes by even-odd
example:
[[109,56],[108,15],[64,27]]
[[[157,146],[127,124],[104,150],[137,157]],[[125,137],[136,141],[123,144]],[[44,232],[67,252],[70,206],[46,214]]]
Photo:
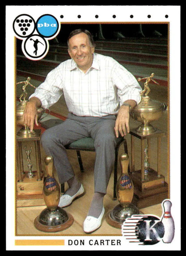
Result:
[[122,225],[122,234],[129,243],[153,245],[161,240],[171,243],[174,238],[174,221],[171,216],[170,200],[162,202],[161,219],[154,215],[132,215]]

